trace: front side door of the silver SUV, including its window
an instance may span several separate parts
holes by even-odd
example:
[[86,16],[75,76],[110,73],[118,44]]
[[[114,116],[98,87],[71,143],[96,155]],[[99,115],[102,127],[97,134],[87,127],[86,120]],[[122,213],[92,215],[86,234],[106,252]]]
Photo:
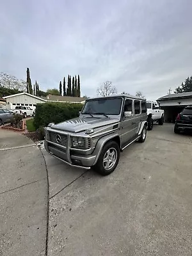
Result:
[[[125,117],[125,111],[129,111],[131,116]],[[121,122],[120,131],[121,144],[123,148],[134,137],[134,115],[132,111],[132,99],[125,99],[123,121]]]

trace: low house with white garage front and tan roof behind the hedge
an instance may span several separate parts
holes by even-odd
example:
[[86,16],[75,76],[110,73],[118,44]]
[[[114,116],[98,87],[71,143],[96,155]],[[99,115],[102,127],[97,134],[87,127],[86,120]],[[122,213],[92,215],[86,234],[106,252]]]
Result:
[[63,102],[63,103],[84,103],[85,98],[47,95],[47,97],[37,97],[26,92],[17,93],[3,97],[6,100],[6,108],[15,109],[16,106],[29,106],[35,109],[36,104],[45,102]]

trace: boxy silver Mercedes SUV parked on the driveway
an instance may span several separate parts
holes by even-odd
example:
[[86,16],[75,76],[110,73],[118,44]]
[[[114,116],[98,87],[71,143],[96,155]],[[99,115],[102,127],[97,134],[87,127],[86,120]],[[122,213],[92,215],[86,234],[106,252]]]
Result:
[[45,148],[72,166],[113,172],[120,151],[147,135],[146,101],[131,95],[88,99],[78,118],[45,128]]

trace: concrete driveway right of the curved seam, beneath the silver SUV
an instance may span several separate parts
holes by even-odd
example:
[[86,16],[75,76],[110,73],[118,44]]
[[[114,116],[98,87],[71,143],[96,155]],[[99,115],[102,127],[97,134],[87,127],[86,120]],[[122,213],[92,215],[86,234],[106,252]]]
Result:
[[101,177],[42,152],[49,173],[48,255],[192,255],[192,137],[154,125]]

